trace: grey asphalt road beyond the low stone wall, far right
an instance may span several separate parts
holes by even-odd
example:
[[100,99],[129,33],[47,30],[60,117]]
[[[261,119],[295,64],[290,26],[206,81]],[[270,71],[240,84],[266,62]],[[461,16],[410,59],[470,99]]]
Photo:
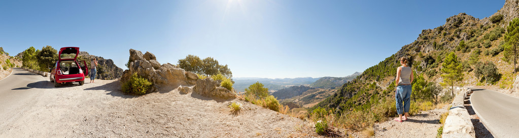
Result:
[[494,90],[471,88],[472,109],[495,137],[519,136],[519,99]]

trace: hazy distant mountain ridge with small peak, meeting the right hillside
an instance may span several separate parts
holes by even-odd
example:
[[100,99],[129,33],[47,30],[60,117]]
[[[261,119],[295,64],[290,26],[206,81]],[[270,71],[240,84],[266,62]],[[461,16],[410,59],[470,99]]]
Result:
[[336,87],[340,87],[343,84],[357,78],[357,76],[360,74],[362,74],[362,72],[355,72],[355,73],[345,76],[345,77],[325,76],[325,77],[317,80],[316,82],[313,82],[312,84],[310,84],[310,87],[334,89]]

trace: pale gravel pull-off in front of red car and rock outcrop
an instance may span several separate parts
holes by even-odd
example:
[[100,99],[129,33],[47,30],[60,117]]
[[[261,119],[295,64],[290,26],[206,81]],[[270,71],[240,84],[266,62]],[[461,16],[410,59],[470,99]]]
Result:
[[[116,80],[40,89],[35,105],[0,137],[321,137],[307,121],[237,99],[176,89],[133,96]],[[232,101],[243,104],[239,113],[229,111]]]

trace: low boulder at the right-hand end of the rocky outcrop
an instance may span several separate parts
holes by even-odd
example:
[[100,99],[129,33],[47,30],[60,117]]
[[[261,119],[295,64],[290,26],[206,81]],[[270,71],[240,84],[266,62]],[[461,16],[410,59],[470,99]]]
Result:
[[199,79],[193,88],[193,93],[204,97],[234,99],[236,94],[224,87],[219,87],[220,81],[214,81],[211,78]]

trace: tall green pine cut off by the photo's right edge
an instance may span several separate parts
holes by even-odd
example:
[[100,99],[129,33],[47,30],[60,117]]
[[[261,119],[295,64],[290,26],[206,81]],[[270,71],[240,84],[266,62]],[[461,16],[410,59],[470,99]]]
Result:
[[504,34],[504,41],[506,44],[504,45],[504,58],[512,59],[514,62],[514,73],[515,64],[517,62],[517,44],[519,44],[519,18],[514,18],[507,26],[507,32]]

